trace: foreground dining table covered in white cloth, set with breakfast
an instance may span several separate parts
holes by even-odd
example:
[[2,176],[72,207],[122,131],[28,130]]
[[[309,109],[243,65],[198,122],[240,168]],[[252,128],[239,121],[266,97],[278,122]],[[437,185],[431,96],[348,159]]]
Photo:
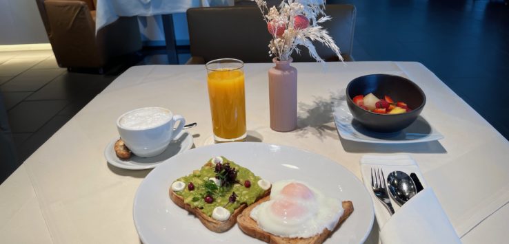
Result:
[[[463,243],[509,240],[509,142],[424,65],[293,63],[298,126],[284,133],[270,129],[272,66],[246,63],[243,68],[248,140],[322,155],[359,180],[363,155],[410,155]],[[335,103],[344,98],[350,80],[367,74],[403,76],[419,85],[426,94],[421,118],[443,139],[379,144],[341,137]],[[139,107],[165,107],[197,122],[187,129],[194,143],[190,151],[214,144],[204,65],[130,67],[0,185],[1,242],[140,243],[133,199],[151,170],[117,168],[103,155],[119,137],[117,118]],[[366,243],[378,241],[375,222]]]

